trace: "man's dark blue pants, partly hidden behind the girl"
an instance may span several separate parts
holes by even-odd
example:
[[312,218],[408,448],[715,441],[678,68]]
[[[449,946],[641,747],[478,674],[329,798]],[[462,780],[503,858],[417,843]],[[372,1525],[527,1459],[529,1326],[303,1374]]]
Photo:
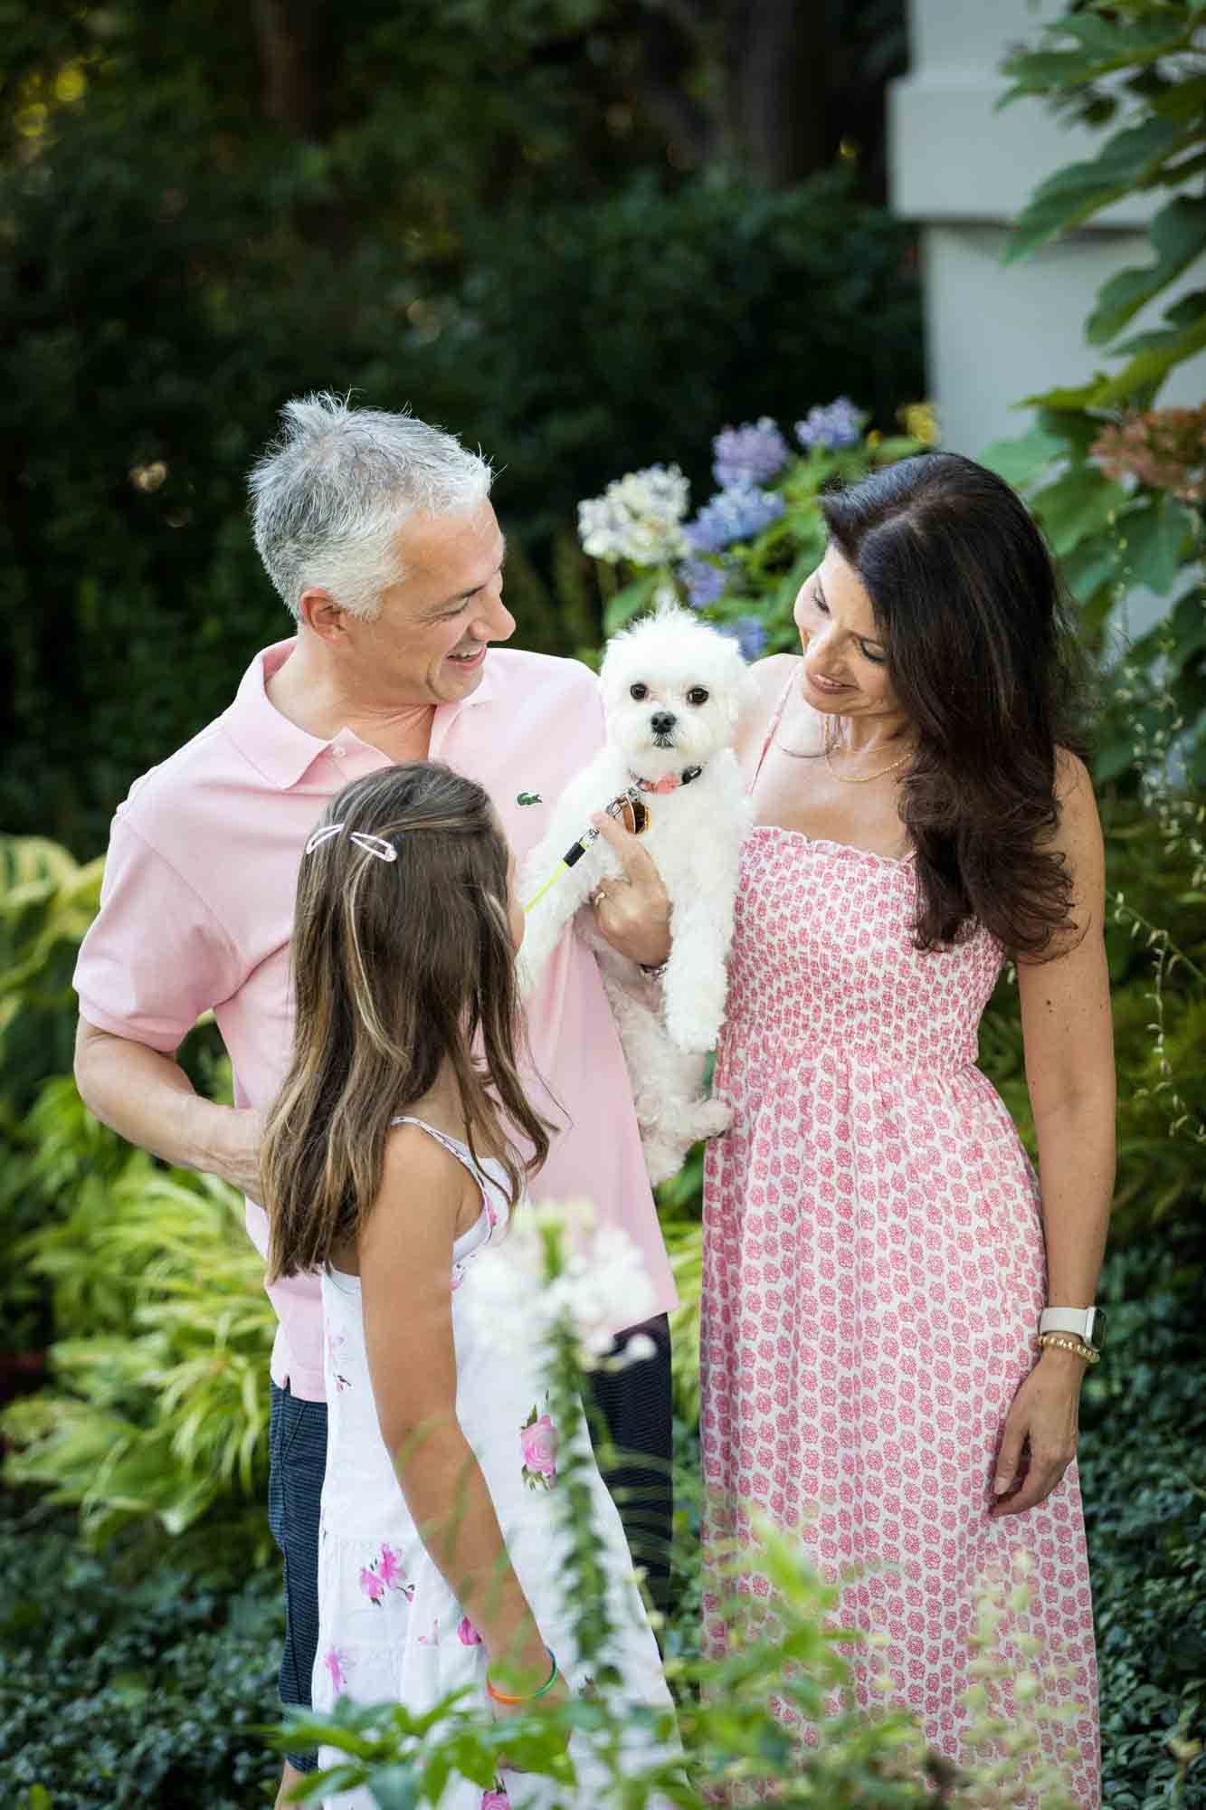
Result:
[[[670,1327],[665,1314],[639,1329],[654,1356],[627,1370],[594,1370],[583,1392],[607,1430],[614,1461],[601,1452],[607,1488],[616,1499],[636,1564],[648,1593],[666,1607],[670,1580]],[[616,1348],[623,1348],[625,1338]],[[596,1441],[599,1443],[599,1441]],[[310,1683],[319,1645],[319,1506],[326,1470],[326,1403],[301,1401],[272,1385],[268,1522],[284,1558],[284,1653],[281,1701],[310,1709]],[[286,1756],[299,1772],[313,1772],[317,1754]]]

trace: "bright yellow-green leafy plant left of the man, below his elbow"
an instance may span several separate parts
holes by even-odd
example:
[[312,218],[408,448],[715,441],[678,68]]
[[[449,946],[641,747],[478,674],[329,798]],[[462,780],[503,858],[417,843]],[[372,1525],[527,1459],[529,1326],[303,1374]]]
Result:
[[[83,1111],[67,1081],[31,1115],[25,1169],[62,1189],[63,1218],[18,1242],[51,1292],[53,1386],[4,1415],[9,1482],[43,1484],[98,1542],[156,1517],[192,1528],[219,1500],[261,1500],[273,1314],[243,1202],[163,1169]],[[266,1533],[261,1528],[263,1551]]]

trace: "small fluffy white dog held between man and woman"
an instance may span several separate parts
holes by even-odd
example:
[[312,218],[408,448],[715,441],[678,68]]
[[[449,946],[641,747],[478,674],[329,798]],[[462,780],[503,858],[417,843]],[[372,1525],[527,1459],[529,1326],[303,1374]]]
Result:
[[599,673],[607,744],[558,800],[532,851],[522,898],[532,901],[567,851],[585,853],[527,916],[525,992],[578,909],[621,867],[590,831],[590,814],[628,795],[648,813],[641,843],[670,896],[672,950],[661,1005],[636,963],[585,925],[599,956],[632,1077],[645,1162],[654,1182],[675,1175],[694,1142],[728,1126],[728,1108],[703,1093],[704,1052],[724,1017],[724,959],[733,934],[737,862],[750,805],[732,751],[753,681],[737,644],[675,606],[616,635]]

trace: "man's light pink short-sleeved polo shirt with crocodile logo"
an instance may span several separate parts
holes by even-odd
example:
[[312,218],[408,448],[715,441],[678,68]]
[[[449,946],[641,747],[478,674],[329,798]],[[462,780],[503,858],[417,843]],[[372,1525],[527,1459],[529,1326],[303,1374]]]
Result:
[[[101,909],[74,976],[89,1024],[165,1053],[212,1006],[239,1106],[268,1106],[288,1066],[290,930],[306,838],[328,798],[389,766],[349,729],[324,742],[268,702],[264,679],[292,650],[279,641],[259,653],[230,710],[134,782],[112,822]],[[601,738],[598,686],[585,666],[491,648],[476,691],[436,708],[429,753],[485,786],[522,863]],[[520,805],[520,793],[541,802]],[[569,1119],[532,1196],[590,1196],[599,1218],[639,1245],[665,1312],[677,1296],[632,1090],[594,956],[574,936],[529,1003],[529,1043],[561,1108],[550,1117]],[[532,1099],[549,1104],[536,1086]],[[254,1200],[246,1227],[266,1254],[268,1216]],[[279,1319],[272,1376],[321,1401],[319,1278],[293,1276],[268,1294]]]

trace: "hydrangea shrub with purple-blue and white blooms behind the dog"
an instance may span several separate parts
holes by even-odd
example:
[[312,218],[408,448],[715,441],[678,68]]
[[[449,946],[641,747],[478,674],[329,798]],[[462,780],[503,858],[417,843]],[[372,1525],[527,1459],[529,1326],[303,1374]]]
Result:
[[[795,424],[799,452],[770,414],[723,427],[712,442],[719,489],[692,519],[677,465],[628,472],[579,503],[578,534],[596,559],[607,634],[668,588],[733,635],[748,661],[793,646],[791,605],[826,539],[820,491],[938,438],[929,404],[911,404],[900,418],[902,434],[867,433],[866,413],[838,396]],[[628,583],[616,581],[617,568]]]

